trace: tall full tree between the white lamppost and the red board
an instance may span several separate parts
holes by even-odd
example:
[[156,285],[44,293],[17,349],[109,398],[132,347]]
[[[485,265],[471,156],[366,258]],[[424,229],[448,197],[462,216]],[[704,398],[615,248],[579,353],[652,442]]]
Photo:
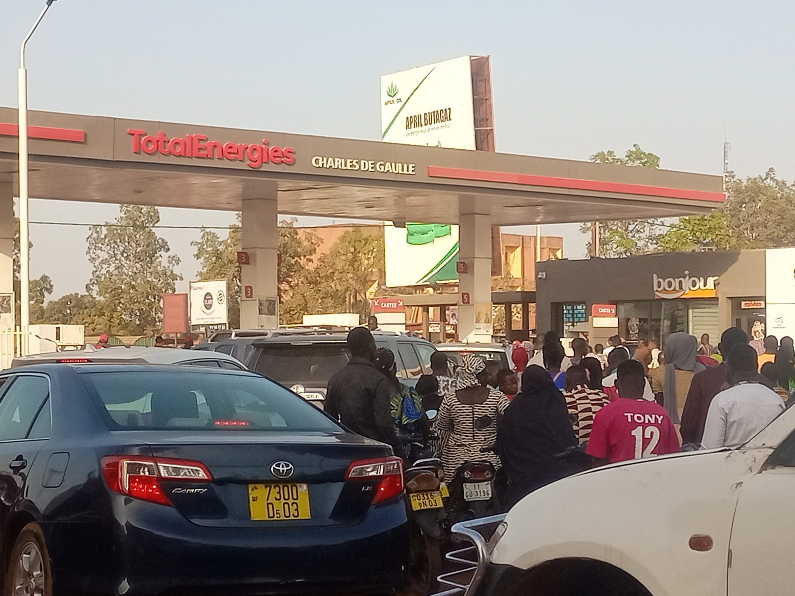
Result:
[[160,222],[157,207],[122,205],[113,223],[91,226],[88,261],[94,265],[86,291],[97,303],[81,315],[96,331],[141,334],[161,326],[162,295],[174,291],[182,276],[180,258],[152,229]]

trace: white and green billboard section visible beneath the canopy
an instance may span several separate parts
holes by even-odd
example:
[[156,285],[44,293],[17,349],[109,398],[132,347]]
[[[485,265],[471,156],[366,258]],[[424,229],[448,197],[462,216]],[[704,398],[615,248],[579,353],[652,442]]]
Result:
[[458,226],[385,223],[384,257],[390,288],[458,281]]

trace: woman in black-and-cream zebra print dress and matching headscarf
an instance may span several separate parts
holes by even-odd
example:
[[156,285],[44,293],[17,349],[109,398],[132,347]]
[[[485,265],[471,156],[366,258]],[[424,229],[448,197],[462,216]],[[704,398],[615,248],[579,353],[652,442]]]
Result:
[[497,416],[510,405],[501,391],[480,385],[477,374],[486,367],[483,358],[467,355],[459,369],[456,392],[444,396],[436,417],[442,437],[444,477],[452,480],[463,462],[486,460],[499,467],[494,451],[481,451],[497,440]]

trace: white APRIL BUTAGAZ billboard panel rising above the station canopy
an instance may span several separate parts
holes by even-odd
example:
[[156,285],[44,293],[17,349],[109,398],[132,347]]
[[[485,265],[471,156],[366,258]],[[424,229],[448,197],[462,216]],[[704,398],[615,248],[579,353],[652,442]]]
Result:
[[381,139],[474,150],[471,57],[382,75]]

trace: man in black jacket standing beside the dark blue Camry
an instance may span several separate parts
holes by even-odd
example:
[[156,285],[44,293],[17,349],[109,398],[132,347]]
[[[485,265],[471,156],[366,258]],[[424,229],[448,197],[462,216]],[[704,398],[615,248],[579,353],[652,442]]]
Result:
[[348,333],[347,346],[351,360],[328,381],[326,413],[359,435],[397,446],[389,381],[373,366],[373,334],[356,327]]

